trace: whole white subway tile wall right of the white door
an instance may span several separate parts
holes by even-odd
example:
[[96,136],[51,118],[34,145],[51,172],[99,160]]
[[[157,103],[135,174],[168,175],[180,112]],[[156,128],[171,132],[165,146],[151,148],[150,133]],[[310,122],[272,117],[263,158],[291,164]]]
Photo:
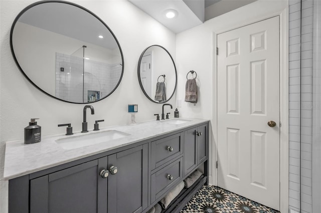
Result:
[[289,208],[311,213],[313,0],[289,0]]

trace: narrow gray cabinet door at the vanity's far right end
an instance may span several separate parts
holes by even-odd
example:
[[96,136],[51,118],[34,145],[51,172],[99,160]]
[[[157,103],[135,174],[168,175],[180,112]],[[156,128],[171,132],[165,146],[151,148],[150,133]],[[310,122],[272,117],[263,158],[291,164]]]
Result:
[[201,125],[197,127],[197,132],[199,132],[197,139],[197,164],[202,162],[207,157],[207,125]]

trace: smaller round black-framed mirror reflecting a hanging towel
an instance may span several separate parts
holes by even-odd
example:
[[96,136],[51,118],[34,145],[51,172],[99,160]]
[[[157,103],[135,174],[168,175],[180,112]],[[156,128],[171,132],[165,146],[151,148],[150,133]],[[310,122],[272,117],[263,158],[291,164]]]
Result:
[[138,61],[138,81],[146,97],[156,103],[172,98],[177,84],[175,62],[170,52],[160,45],[144,49]]

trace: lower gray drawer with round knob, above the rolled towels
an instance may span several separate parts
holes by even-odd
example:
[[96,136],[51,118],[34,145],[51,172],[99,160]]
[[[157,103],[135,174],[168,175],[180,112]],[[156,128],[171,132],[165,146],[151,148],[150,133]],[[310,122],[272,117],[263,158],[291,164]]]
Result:
[[[150,177],[150,201],[153,202],[157,198],[164,195],[174,185],[182,181],[183,177],[183,157],[175,160],[171,164],[151,174]],[[173,178],[170,179],[171,175]]]

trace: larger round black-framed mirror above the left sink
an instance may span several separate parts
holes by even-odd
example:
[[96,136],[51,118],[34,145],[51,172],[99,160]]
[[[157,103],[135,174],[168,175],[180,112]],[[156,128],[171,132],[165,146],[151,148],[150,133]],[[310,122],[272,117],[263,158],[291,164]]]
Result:
[[103,99],[123,75],[123,55],[113,32],[93,12],[68,1],[26,7],[12,25],[10,44],[27,79],[63,101]]

